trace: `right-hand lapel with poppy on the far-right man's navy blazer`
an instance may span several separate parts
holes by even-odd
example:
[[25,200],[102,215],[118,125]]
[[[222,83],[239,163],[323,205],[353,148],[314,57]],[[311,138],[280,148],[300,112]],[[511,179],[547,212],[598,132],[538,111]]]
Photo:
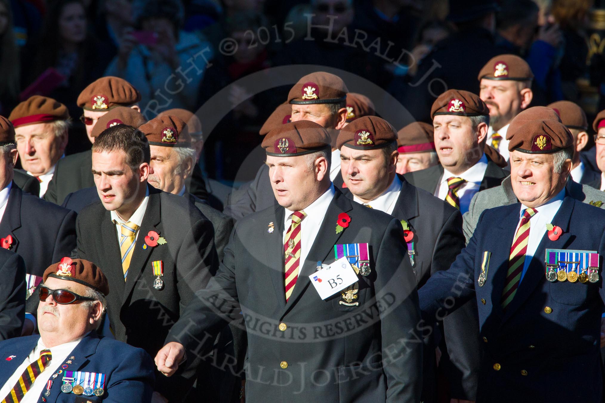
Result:
[[[523,276],[523,280],[519,284],[517,294],[512,298],[512,301],[506,309],[506,315],[503,321],[507,320],[511,315],[527,300],[529,295],[534,291],[535,287],[544,279],[545,276],[545,250],[548,249],[565,249],[569,242],[571,234],[569,233],[569,220],[574,211],[575,201],[571,197],[566,197],[561,203],[561,207],[552,219],[553,225],[558,225],[563,230],[563,234],[557,240],[549,239],[546,228],[538,228],[538,231],[543,231],[542,239],[535,250],[534,257],[529,263],[528,270]],[[538,207],[539,208],[539,207]]]

